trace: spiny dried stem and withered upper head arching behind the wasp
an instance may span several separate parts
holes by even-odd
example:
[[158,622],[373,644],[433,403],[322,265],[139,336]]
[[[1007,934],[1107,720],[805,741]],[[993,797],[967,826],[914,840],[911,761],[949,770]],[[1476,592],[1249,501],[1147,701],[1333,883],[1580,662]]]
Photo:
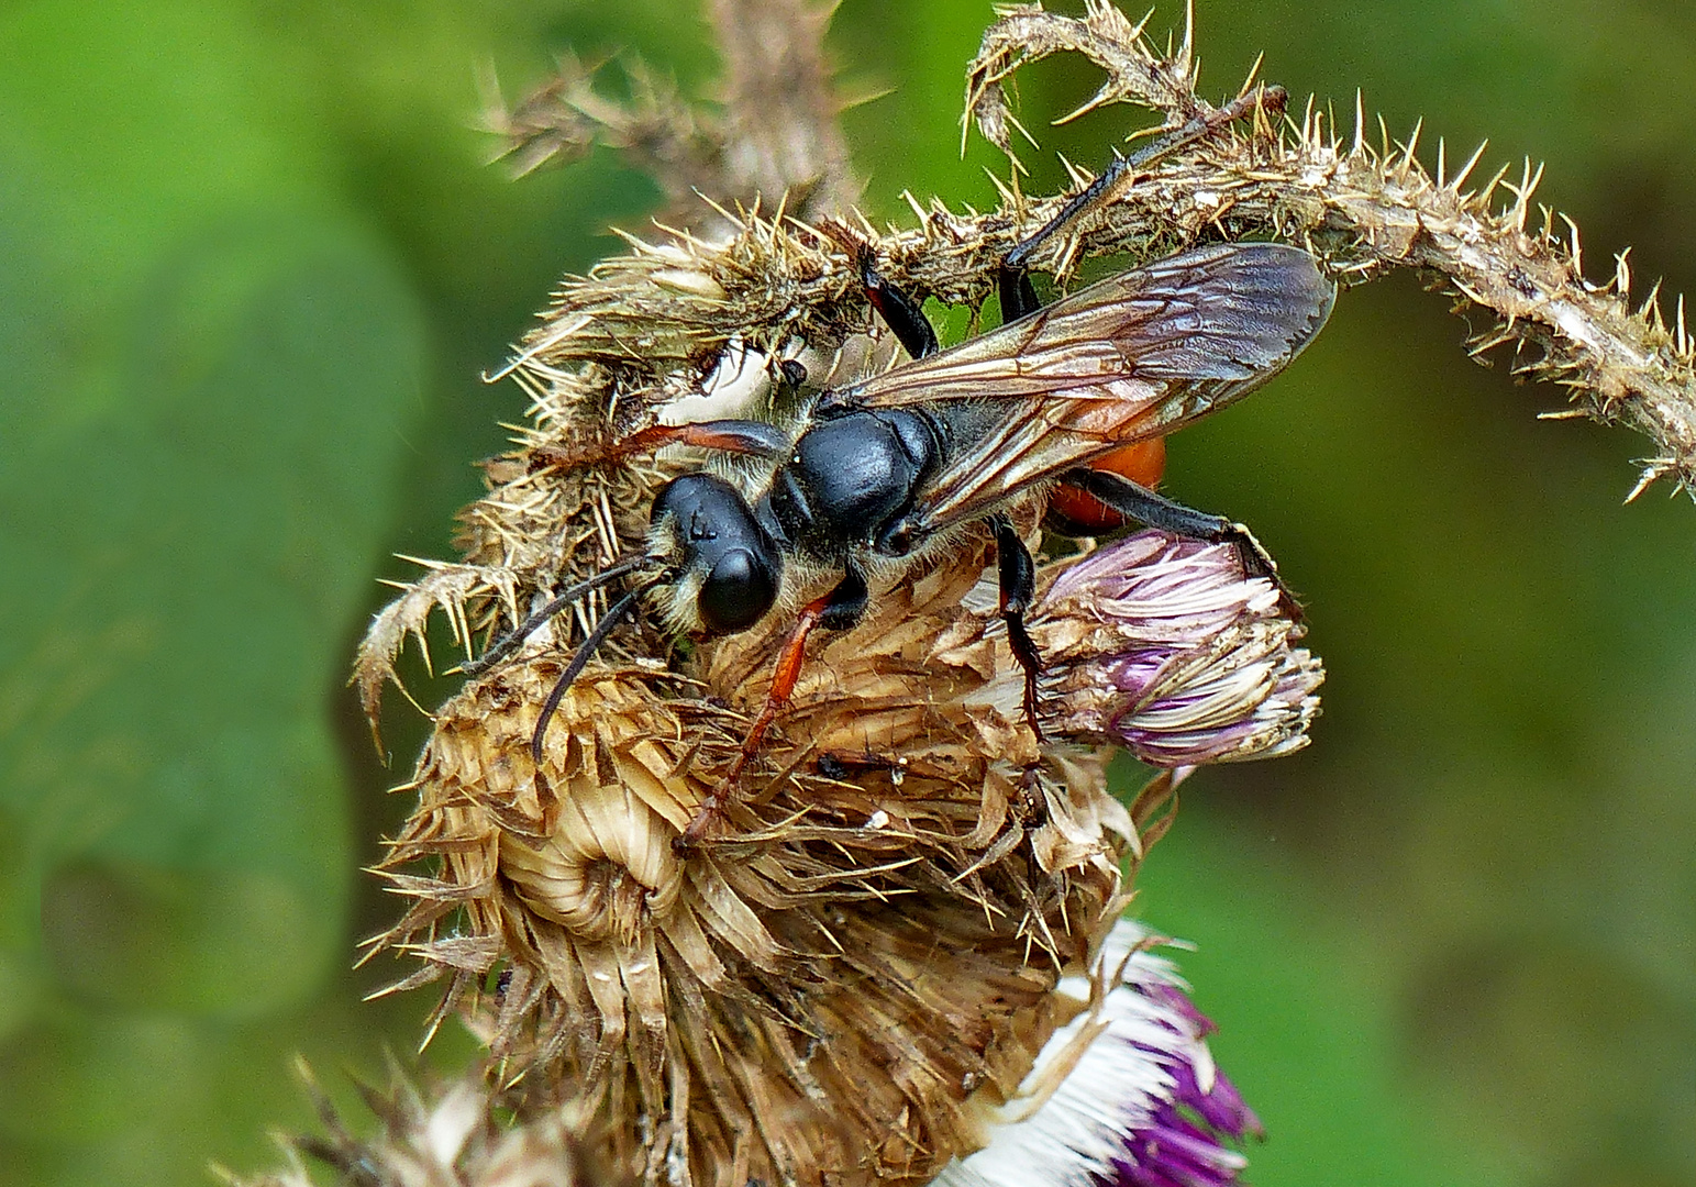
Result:
[[[797,12],[801,25],[816,32],[816,14],[807,5]],[[1124,102],[1163,114],[1170,127],[1214,110],[1194,90],[1187,31],[1177,49],[1160,53],[1143,25],[1099,0],[1079,19],[1038,5],[1009,7],[968,68],[968,117],[992,141],[1009,146],[1002,81],[1055,53],[1084,54],[1107,71],[1080,110]],[[1572,407],[1550,415],[1623,422],[1652,439],[1655,453],[1632,495],[1662,476],[1696,490],[1696,356],[1682,300],[1671,329],[1654,292],[1633,309],[1623,256],[1608,283],[1584,280],[1577,231],[1533,207],[1542,170],[1526,166],[1508,180],[1503,168],[1469,190],[1477,153],[1450,171],[1440,149],[1433,176],[1414,156],[1418,132],[1408,144],[1392,144],[1379,124],[1374,142],[1357,107],[1353,131],[1340,136],[1326,110],[1309,102],[1289,124],[1262,115],[1162,159],[1035,263],[1063,278],[1082,256],[1148,258],[1204,239],[1270,236],[1313,249],[1345,283],[1392,268],[1425,270],[1459,307],[1494,315],[1474,336],[1474,353],[1513,344],[1518,375],[1570,390]],[[544,127],[558,131],[565,120],[538,115],[524,137]],[[648,159],[678,183],[706,176]],[[741,178],[733,190],[755,187]],[[431,571],[373,624],[356,672],[366,709],[375,716],[393,656],[409,633],[422,639],[434,609],[446,610],[456,636],[468,641],[465,607],[487,610],[499,599],[516,617],[521,590],[587,571],[616,553],[621,531],[626,541],[639,534],[653,483],[592,471],[582,483],[621,490],[597,492],[597,515],[587,515],[580,505],[587,495],[556,480],[561,460],[592,456],[607,437],[643,427],[660,409],[699,392],[728,351],[745,348],[762,358],[807,344],[829,353],[873,327],[858,288],[862,246],[877,253],[895,283],[948,304],[980,305],[996,263],[1063,202],[1063,195],[1026,198],[1007,188],[994,212],[955,214],[940,200],[914,200],[916,226],[882,232],[851,212],[807,224],[782,210],[716,207],[728,237],[661,229],[653,242],[629,237],[628,254],[589,276],[566,278],[502,371],[533,397],[522,448],[492,465],[492,493],[466,512],[465,563],[427,563]],[[1557,232],[1557,222],[1564,231]],[[614,505],[624,517],[619,531],[611,522]],[[590,527],[604,551],[585,560],[570,544]]]

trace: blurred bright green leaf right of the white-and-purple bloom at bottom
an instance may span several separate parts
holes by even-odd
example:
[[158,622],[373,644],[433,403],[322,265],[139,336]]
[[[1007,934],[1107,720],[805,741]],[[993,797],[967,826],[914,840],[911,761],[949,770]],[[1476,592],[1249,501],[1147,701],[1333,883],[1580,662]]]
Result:
[[1269,1133],[1248,1150],[1258,1187],[1515,1182],[1499,1153],[1462,1148],[1408,1099],[1394,1073],[1398,1019],[1350,951],[1358,919],[1328,911],[1299,872],[1182,819],[1136,885],[1135,914],[1197,946],[1180,965],[1219,1026],[1214,1056]]

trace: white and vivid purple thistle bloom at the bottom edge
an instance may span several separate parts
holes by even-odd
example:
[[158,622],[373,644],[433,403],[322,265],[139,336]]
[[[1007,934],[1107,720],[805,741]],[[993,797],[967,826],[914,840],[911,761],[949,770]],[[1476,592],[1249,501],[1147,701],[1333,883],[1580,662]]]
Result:
[[931,1187],[1225,1187],[1247,1160],[1226,1143],[1260,1123],[1208,1051],[1213,1024],[1153,939],[1121,921],[1091,978],[1060,984],[1077,1014],[1018,1094],[984,1102],[982,1150]]

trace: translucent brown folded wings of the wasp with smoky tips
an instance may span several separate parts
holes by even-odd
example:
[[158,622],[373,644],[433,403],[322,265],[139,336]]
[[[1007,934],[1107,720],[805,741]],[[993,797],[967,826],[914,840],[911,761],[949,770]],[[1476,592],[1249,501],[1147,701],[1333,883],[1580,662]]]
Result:
[[1335,295],[1297,248],[1202,248],[831,392],[819,407],[923,405],[945,424],[948,463],[909,519],[926,536],[1247,395],[1313,341]]

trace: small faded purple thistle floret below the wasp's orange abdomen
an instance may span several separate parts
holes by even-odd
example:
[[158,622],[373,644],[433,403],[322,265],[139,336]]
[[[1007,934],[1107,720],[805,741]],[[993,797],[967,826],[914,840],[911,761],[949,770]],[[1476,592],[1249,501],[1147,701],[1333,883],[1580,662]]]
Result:
[[1155,766],[1269,758],[1308,743],[1325,670],[1233,544],[1126,536],[1067,568],[1031,612],[1043,726]]

